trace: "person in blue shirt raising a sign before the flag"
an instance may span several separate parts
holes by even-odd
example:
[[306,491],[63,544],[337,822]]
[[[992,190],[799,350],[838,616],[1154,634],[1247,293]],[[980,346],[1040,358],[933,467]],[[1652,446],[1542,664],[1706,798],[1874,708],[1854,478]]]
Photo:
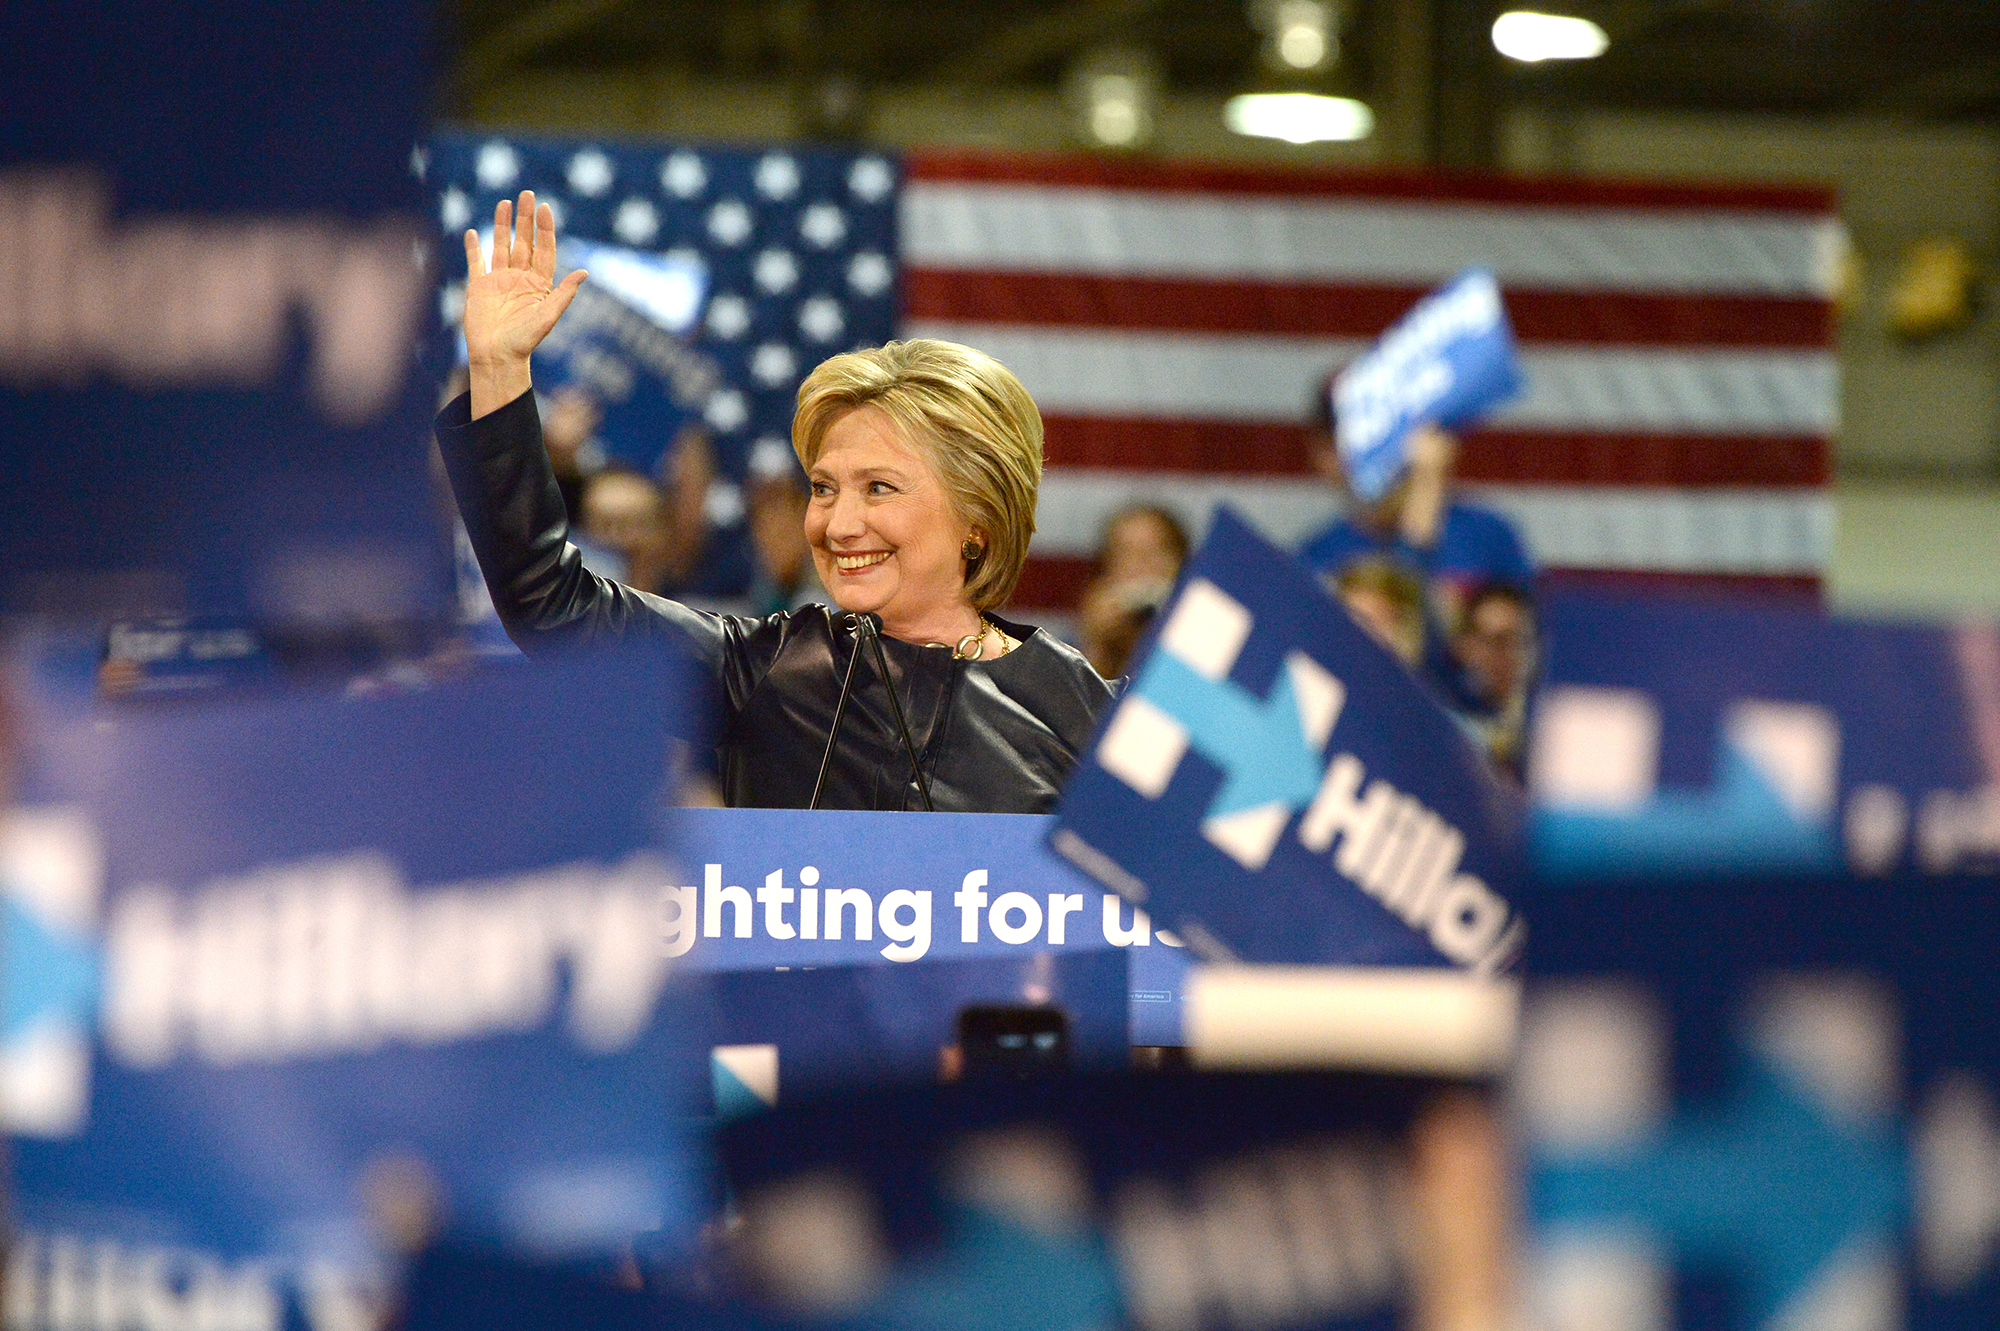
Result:
[[1312,536],[1300,558],[1320,574],[1340,576],[1352,560],[1386,556],[1424,578],[1438,624],[1456,624],[1466,590],[1486,582],[1518,588],[1534,580],[1520,534],[1500,514],[1452,498],[1458,440],[1438,426],[1410,432],[1408,472],[1380,500],[1364,504],[1348,488],[1340,450],[1332,378],[1314,394],[1308,448],[1314,468],[1344,496],[1344,516]]

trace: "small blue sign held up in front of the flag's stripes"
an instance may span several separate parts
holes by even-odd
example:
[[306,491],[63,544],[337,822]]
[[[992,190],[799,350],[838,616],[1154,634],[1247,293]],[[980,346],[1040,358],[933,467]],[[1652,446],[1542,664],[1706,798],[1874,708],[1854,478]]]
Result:
[[1410,430],[1458,428],[1520,392],[1500,284],[1468,268],[1416,302],[1334,380],[1334,444],[1348,486],[1380,500],[1402,478]]

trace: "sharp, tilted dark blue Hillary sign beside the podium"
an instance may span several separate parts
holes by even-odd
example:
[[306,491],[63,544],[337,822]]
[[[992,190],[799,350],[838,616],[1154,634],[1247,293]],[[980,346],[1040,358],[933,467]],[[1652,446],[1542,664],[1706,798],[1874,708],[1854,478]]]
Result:
[[1216,516],[1050,845],[1208,959],[1506,965],[1518,809],[1292,558]]

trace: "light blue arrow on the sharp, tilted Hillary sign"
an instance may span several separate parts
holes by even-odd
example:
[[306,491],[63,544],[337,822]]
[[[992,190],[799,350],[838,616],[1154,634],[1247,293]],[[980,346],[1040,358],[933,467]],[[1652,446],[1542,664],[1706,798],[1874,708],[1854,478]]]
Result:
[[1288,671],[1278,671],[1260,701],[1230,679],[1208,679],[1174,654],[1154,652],[1134,691],[1186,725],[1190,747],[1228,773],[1208,817],[1266,803],[1298,809],[1320,789],[1324,763],[1306,739]]

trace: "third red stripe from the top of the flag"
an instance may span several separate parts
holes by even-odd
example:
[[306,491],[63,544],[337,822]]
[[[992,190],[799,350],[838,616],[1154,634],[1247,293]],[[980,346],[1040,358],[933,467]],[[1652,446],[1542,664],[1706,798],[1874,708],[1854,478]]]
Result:
[[[1222,476],[1310,476],[1302,426],[1044,416],[1048,466]],[[1764,486],[1830,480],[1826,440],[1480,430],[1458,480],[1514,486]]]

